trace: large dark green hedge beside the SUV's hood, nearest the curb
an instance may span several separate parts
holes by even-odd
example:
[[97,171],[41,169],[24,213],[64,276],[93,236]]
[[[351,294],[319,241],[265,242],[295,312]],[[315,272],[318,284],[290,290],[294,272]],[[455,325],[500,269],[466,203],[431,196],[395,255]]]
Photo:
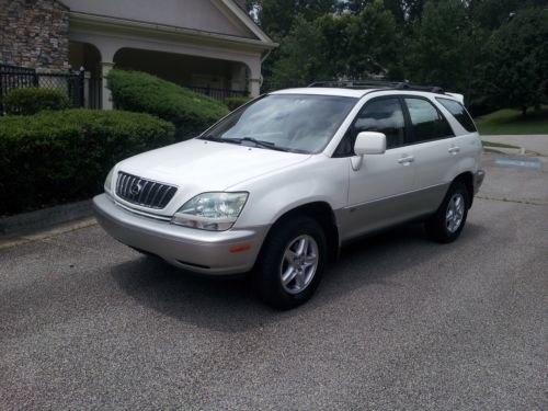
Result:
[[173,135],[168,122],[119,111],[0,117],[0,216],[89,198],[117,161]]

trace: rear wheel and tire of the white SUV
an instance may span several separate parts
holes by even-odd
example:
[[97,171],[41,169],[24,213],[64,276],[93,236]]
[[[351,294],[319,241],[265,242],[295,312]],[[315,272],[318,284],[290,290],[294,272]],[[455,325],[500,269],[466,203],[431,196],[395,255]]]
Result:
[[425,222],[429,237],[441,243],[455,241],[466,224],[470,193],[465,184],[454,182],[437,212]]

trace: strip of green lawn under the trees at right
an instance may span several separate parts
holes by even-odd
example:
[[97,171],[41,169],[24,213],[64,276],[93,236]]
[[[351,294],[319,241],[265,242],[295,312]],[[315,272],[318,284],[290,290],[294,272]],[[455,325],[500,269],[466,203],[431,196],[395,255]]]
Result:
[[529,110],[522,116],[518,110],[499,110],[498,112],[476,118],[481,135],[504,134],[546,134],[548,135],[548,105],[535,112]]

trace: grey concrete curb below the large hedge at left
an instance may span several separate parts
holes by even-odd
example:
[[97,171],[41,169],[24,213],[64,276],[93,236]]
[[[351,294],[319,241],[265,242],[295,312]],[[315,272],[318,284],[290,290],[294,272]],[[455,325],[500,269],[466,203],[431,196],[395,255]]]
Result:
[[91,199],[0,218],[0,238],[28,235],[93,216]]

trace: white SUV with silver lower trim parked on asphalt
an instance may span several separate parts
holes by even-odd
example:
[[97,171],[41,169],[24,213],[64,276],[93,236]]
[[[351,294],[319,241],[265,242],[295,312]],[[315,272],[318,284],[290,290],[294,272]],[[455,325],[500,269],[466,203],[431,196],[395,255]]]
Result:
[[439,89],[282,90],[119,162],[93,202],[121,242],[193,272],[252,271],[266,301],[292,308],[349,240],[411,219],[455,240],[480,153],[458,95]]

